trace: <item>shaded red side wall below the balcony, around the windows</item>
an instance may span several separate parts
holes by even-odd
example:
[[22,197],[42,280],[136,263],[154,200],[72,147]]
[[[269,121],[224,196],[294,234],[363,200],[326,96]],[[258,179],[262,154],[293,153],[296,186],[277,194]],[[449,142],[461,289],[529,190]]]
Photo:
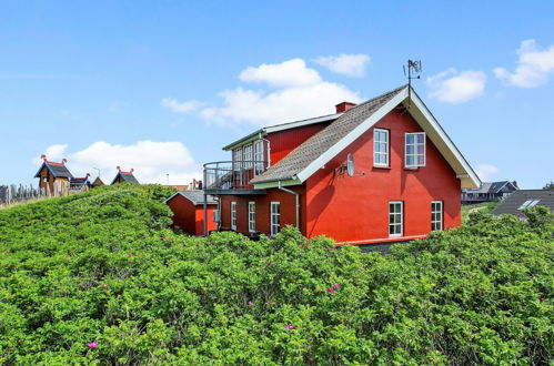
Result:
[[[294,186],[292,190],[300,192],[301,204],[305,206],[304,186]],[[248,203],[255,202],[255,230],[270,234],[270,204],[281,203],[281,227],[295,225],[296,223],[296,199],[293,194],[278,189],[268,190],[268,194],[259,195],[221,195],[221,228],[231,230],[231,202],[236,202],[236,231],[249,234]],[[304,201],[304,202],[302,202]],[[301,212],[301,231],[305,234],[305,211]]]

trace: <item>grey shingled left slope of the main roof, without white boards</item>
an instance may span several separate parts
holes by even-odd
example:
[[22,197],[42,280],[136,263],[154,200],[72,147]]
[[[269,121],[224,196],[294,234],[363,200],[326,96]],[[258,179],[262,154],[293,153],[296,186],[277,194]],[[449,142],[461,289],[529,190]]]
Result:
[[404,88],[405,85],[394,89],[347,110],[336,121],[309,138],[263,174],[254,177],[251,183],[294,179],[311,162],[331,149]]

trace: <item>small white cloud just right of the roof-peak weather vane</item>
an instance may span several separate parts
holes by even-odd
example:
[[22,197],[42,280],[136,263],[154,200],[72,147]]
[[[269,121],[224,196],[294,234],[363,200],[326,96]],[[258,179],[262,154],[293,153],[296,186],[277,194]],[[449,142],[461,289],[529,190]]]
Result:
[[474,99],[485,90],[486,75],[482,71],[462,71],[450,68],[427,78],[431,98],[441,102],[461,103]]

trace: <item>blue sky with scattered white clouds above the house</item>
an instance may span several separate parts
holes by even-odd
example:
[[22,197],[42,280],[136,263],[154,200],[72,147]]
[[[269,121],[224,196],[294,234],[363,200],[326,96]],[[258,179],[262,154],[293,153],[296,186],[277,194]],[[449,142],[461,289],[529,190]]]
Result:
[[[188,184],[260,126],[406,83],[483,181],[554,180],[553,1],[1,1],[0,184]],[[169,174],[169,175],[168,175]]]

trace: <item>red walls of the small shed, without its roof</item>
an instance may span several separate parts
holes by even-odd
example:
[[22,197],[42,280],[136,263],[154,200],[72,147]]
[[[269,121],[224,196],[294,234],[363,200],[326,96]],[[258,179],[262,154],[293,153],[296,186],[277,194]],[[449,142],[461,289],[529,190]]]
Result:
[[[203,205],[194,205],[192,202],[178,194],[170,201],[168,206],[173,211],[173,225],[180,227],[183,232],[191,235],[204,234],[204,207]],[[215,230],[213,222],[213,211],[216,210],[215,204],[208,205],[208,232]]]

